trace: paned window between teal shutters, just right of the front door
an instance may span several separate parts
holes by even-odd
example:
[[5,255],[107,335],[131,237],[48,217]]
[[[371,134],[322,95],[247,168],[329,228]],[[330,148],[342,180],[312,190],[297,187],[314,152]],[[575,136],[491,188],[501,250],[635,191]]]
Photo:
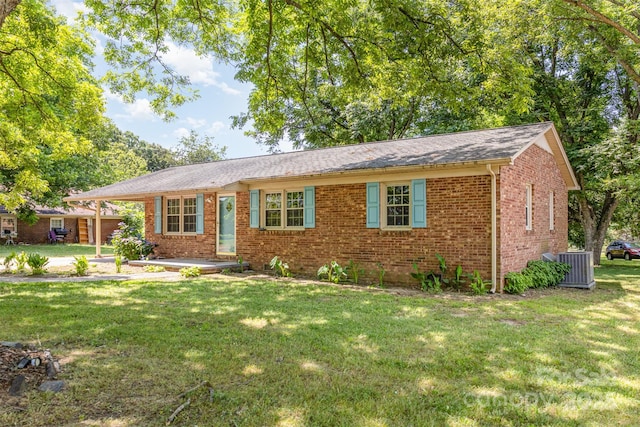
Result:
[[304,191],[265,193],[264,224],[267,228],[304,227]]

